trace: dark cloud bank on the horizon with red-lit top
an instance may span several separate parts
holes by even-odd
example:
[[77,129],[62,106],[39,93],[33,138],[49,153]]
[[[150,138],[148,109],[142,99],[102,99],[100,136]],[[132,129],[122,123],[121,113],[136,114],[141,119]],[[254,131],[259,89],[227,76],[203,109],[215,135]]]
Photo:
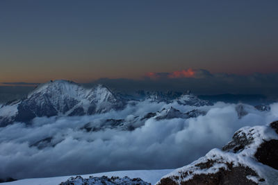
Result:
[[204,69],[184,69],[167,73],[147,73],[140,80],[101,78],[101,83],[126,92],[142,89],[157,91],[186,91],[194,94],[263,94],[277,100],[278,73],[236,75],[210,73]]

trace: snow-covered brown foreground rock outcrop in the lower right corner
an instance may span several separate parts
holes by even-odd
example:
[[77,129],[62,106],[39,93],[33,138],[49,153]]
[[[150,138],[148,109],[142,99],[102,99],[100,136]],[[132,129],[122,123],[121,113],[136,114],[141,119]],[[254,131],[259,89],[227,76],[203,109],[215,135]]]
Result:
[[165,184],[278,184],[278,121],[241,128],[222,150],[211,150],[157,183]]

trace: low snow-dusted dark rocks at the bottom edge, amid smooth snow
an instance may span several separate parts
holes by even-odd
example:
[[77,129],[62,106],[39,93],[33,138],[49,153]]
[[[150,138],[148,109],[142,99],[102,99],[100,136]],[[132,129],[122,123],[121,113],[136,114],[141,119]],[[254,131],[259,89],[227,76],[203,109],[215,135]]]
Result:
[[102,177],[92,177],[90,176],[88,179],[83,179],[81,176],[70,177],[66,182],[62,182],[59,185],[92,185],[92,184],[103,184],[103,185],[150,185],[148,182],[144,182],[140,178],[131,179],[129,177],[111,177],[108,178],[106,176]]

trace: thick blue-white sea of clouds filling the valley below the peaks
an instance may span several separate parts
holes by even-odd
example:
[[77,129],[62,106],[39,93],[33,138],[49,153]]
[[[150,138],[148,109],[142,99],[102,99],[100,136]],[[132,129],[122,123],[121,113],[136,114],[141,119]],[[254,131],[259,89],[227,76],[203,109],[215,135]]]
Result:
[[[181,112],[196,107],[177,103],[130,103],[119,112],[93,116],[35,118],[32,124],[14,123],[0,128],[0,178],[51,177],[111,170],[178,168],[221,148],[243,126],[278,120],[278,103],[270,112],[244,105],[249,114],[238,118],[235,104],[198,107],[207,112],[197,118],[157,121],[149,118],[133,131],[107,129],[85,132],[85,123],[157,112],[170,106]],[[52,137],[53,146],[32,146]]]

